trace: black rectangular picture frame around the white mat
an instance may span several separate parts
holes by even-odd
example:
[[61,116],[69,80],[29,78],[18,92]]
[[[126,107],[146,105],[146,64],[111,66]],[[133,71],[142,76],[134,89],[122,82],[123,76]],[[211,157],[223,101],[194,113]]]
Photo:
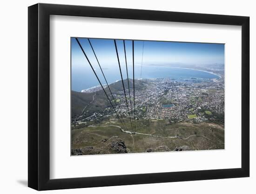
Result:
[[[50,15],[242,26],[242,167],[217,170],[53,179],[50,175]],[[249,176],[249,17],[107,7],[36,4],[28,7],[28,187],[101,187]]]

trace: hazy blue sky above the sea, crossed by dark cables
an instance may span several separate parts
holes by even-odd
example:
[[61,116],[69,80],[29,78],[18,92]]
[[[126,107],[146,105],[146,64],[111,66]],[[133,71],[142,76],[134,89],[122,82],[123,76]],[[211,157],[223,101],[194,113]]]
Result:
[[[92,64],[97,65],[87,38],[79,38],[81,46]],[[118,65],[114,40],[90,39],[98,60],[103,68]],[[116,40],[120,62],[125,63],[123,40]],[[143,48],[144,43],[144,50]],[[164,42],[135,40],[135,64],[224,64],[224,44]],[[132,65],[132,41],[125,40],[128,66]],[[75,38],[71,38],[72,68],[87,65],[81,48]]]

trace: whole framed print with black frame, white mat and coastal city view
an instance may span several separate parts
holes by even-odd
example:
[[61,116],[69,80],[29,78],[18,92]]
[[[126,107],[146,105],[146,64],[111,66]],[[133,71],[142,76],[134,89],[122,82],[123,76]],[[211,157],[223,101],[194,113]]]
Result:
[[28,7],[28,186],[249,176],[249,17]]

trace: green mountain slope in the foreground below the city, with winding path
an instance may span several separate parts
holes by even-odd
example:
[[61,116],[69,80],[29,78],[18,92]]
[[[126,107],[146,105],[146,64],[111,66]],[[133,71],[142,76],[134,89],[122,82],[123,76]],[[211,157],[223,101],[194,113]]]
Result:
[[[124,120],[128,130],[132,132],[129,120]],[[116,126],[122,127],[113,120],[104,120],[90,127],[73,129],[72,149],[93,147],[94,152],[91,154],[115,154],[106,145],[108,140],[116,136],[124,141],[128,153],[143,153],[151,148],[154,152],[173,151],[175,147],[181,146],[187,146],[190,150],[224,149],[224,130],[217,124],[170,124],[167,120],[137,120],[136,132],[141,134],[134,135],[124,133]]]

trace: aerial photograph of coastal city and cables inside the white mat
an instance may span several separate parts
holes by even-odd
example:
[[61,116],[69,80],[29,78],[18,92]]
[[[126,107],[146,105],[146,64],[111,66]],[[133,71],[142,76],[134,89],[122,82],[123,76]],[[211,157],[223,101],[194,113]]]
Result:
[[225,44],[70,43],[72,156],[225,149]]

